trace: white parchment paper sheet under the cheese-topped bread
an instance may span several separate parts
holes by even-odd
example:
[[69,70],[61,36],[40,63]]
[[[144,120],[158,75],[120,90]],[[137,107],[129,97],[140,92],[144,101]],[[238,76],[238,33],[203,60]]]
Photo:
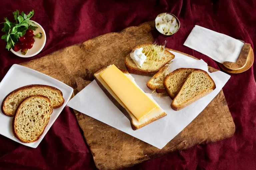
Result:
[[[208,71],[207,63],[203,60],[171,52],[175,55],[175,59],[170,65],[170,71],[177,68],[199,68]],[[142,90],[152,92],[146,86],[151,77],[131,75]],[[67,106],[161,149],[203,111],[230,78],[228,74],[221,71],[209,73],[209,75],[214,80],[216,89],[180,111],[172,110],[170,97],[153,96],[167,116],[138,130],[132,130],[130,121],[109,100],[95,80],[73,97]]]

